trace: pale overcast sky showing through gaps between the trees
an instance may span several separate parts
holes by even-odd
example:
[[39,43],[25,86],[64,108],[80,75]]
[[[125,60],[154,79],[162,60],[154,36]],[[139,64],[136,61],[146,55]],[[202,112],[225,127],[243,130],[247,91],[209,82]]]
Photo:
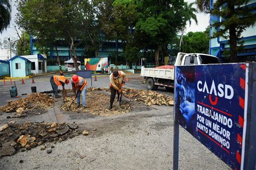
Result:
[[[185,2],[189,2],[192,3],[194,2],[194,0],[185,0]],[[11,13],[11,24],[10,27],[6,30],[3,31],[2,34],[0,34],[0,40],[4,40],[5,37],[17,37],[16,31],[14,29],[13,24],[15,24],[15,19],[16,19],[16,13],[17,13],[17,9],[15,6],[15,1],[11,1],[12,3],[12,13]],[[194,22],[194,20],[192,20],[191,25],[189,25],[189,23],[187,22],[187,26],[186,26],[186,30],[185,32],[196,32],[196,31],[205,31],[206,27],[209,25],[209,15],[205,15],[203,13],[197,13],[197,20],[198,20],[198,24],[196,24]]]

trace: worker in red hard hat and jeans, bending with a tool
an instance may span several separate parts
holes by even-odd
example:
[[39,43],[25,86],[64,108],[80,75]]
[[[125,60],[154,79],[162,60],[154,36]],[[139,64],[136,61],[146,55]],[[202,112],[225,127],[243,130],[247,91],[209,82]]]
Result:
[[71,78],[72,89],[75,94],[75,99],[77,99],[77,108],[80,107],[80,93],[82,93],[82,105],[86,107],[85,97],[86,97],[86,80],[83,77],[73,75]]

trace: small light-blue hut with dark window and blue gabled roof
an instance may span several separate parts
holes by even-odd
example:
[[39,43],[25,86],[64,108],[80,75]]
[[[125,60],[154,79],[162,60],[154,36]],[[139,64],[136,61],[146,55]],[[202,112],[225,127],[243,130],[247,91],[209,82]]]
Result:
[[10,60],[11,77],[26,77],[31,74],[31,61],[22,56],[14,56]]

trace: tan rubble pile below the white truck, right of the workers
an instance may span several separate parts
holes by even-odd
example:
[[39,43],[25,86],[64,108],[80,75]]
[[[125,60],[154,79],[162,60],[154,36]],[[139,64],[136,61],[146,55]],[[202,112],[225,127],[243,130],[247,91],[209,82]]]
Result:
[[173,105],[173,99],[150,90],[123,89],[123,95],[134,101],[143,102],[147,105]]

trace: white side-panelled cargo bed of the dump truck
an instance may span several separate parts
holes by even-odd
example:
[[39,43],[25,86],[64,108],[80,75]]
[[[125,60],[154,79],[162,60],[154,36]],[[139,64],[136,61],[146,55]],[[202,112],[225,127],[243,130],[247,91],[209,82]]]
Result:
[[174,69],[142,67],[140,76],[174,80]]

